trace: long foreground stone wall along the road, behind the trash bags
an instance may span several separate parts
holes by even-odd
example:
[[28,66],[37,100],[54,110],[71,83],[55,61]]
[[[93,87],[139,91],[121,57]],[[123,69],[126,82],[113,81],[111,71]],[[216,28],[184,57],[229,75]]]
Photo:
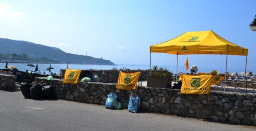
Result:
[[[62,84],[60,79],[35,78],[37,82],[42,79],[53,85],[58,99],[105,105],[107,94],[116,92],[118,101],[128,108],[130,91],[116,90],[116,84],[79,81],[78,85],[72,85]],[[256,125],[256,95],[210,92],[208,100],[205,94],[181,94],[176,89],[141,86],[137,93],[141,97],[140,111]]]

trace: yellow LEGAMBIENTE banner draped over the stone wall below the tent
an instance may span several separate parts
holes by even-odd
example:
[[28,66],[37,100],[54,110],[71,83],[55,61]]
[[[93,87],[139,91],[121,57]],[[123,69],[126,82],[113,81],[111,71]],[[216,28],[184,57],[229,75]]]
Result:
[[211,75],[183,75],[182,94],[209,94]]

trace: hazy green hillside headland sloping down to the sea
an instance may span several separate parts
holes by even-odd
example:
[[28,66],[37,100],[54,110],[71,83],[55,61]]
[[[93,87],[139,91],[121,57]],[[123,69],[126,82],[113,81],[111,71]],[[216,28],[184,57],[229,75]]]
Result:
[[56,47],[35,44],[27,41],[16,41],[0,38],[0,54],[26,54],[29,58],[50,59],[56,62],[69,62],[93,65],[115,65],[109,60],[93,58],[91,56],[70,54]]

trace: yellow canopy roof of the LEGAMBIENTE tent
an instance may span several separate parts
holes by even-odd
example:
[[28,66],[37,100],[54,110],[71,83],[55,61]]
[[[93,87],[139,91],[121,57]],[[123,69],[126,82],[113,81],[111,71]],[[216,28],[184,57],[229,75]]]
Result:
[[150,46],[150,52],[175,55],[223,54],[245,55],[248,49],[223,39],[213,31],[185,32],[169,41]]

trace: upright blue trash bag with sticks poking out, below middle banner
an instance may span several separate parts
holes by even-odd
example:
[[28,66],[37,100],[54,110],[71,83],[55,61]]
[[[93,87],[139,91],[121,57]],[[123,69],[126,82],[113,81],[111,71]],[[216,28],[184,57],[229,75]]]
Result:
[[129,103],[128,103],[128,111],[133,112],[133,113],[137,113],[137,111],[140,108],[140,104],[141,104],[141,98],[140,97],[130,96],[130,100],[129,100]]

